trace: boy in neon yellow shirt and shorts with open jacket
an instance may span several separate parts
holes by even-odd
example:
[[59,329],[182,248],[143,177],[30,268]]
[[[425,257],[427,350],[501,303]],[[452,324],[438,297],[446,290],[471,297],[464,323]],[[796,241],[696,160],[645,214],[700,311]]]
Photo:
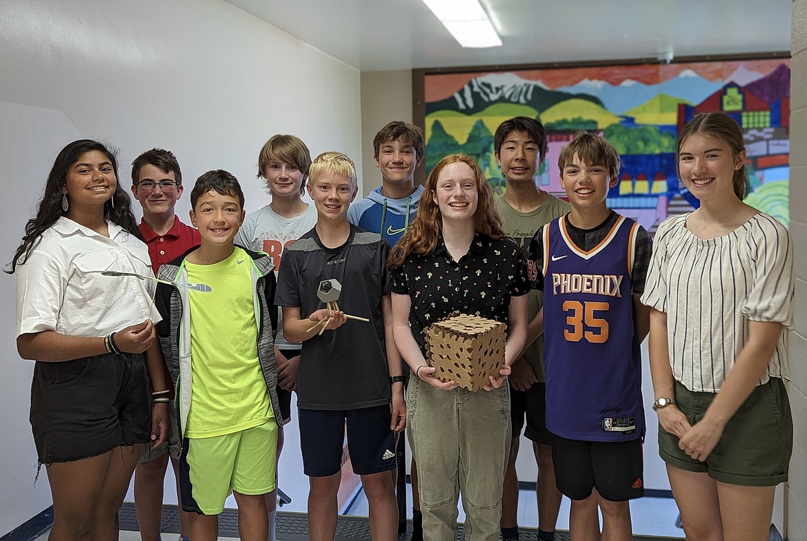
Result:
[[[202,243],[160,268],[156,304],[165,360],[177,381],[180,488],[190,538],[218,537],[233,493],[240,539],[266,541],[265,494],[275,488],[278,425],[274,273],[269,256],[233,243],[244,193],[226,171],[204,173],[190,193]],[[210,292],[182,285],[209,285]]]

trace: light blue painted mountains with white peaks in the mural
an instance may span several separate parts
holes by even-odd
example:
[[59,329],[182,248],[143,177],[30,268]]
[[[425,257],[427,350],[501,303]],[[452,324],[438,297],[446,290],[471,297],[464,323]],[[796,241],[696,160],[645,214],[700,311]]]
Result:
[[722,85],[721,81],[708,81],[691,69],[684,69],[677,77],[672,77],[659,85],[645,85],[633,79],[625,79],[619,85],[583,79],[573,86],[558,87],[558,91],[589,94],[599,98],[606,109],[614,113],[629,114],[627,111],[641,106],[658,94],[674,96],[683,102],[698,103],[709,94],[717,92]]

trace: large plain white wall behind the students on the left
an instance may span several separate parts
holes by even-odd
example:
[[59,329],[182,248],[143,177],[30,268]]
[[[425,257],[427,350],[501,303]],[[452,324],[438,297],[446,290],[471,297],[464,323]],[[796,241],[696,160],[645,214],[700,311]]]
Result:
[[[274,133],[361,169],[358,71],[220,0],[2,0],[0,74],[2,264],[73,139],[117,146],[127,186],[132,159],[155,146],[176,153],[189,186],[228,169],[248,211],[268,202],[255,165]],[[188,208],[184,197],[183,219]],[[15,349],[14,288],[0,276],[0,536],[51,504],[44,468],[33,485],[32,364]]]

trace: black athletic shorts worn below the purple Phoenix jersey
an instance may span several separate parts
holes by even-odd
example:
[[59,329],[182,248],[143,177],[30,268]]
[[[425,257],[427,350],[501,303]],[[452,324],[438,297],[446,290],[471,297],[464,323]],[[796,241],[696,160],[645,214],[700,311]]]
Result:
[[592,442],[552,435],[552,461],[558,490],[584,500],[597,489],[608,501],[627,501],[645,494],[642,439]]

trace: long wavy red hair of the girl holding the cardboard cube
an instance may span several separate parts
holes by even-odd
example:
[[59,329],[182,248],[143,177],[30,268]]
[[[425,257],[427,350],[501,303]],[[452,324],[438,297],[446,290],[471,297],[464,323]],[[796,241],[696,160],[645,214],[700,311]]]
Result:
[[493,190],[487,183],[485,173],[473,158],[465,154],[449,154],[437,164],[426,179],[425,191],[417,207],[417,216],[412,226],[395,244],[387,259],[387,268],[397,268],[403,264],[412,253],[427,254],[433,252],[440,242],[443,231],[443,221],[440,206],[434,202],[433,195],[437,193],[437,181],[446,165],[463,163],[470,167],[476,180],[476,189],[479,194],[476,212],[474,214],[474,230],[492,239],[504,237],[503,225],[499,209],[493,200]]

